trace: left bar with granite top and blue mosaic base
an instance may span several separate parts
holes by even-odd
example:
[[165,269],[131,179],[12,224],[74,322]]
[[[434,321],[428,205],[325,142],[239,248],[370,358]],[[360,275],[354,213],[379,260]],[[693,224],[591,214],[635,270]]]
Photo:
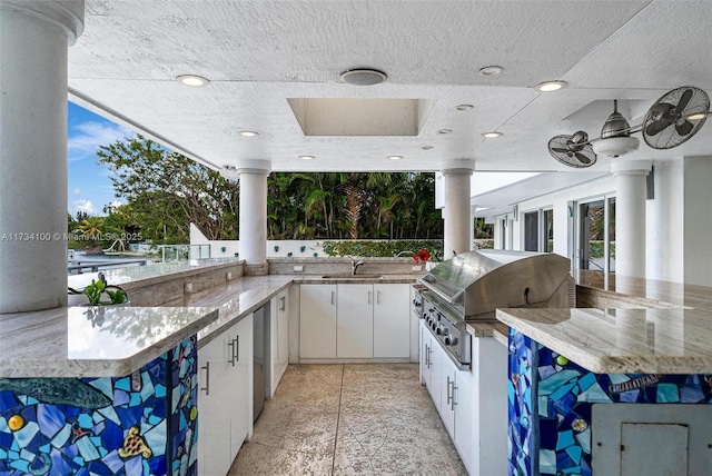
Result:
[[0,474],[191,474],[197,334],[215,308],[3,315]]

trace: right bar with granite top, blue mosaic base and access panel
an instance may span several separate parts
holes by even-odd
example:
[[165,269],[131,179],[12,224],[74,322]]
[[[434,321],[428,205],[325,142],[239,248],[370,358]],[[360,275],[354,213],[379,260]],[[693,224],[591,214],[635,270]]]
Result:
[[508,474],[709,474],[705,309],[500,309]]

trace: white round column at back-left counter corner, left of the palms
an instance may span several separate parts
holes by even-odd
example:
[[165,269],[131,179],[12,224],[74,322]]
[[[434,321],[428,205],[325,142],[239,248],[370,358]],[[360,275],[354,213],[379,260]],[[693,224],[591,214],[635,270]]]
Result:
[[238,167],[240,176],[240,259],[247,275],[266,275],[267,269],[267,176],[271,165],[251,160]]

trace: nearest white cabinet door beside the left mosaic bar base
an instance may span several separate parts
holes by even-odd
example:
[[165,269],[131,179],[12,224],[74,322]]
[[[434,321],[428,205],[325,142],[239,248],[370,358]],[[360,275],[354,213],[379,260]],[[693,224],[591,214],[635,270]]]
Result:
[[224,475],[230,468],[230,368],[228,344],[224,333],[198,350],[198,470],[206,475]]

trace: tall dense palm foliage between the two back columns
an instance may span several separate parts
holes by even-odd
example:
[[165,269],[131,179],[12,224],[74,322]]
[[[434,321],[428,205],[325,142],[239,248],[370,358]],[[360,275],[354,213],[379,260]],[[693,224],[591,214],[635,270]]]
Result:
[[286,173],[268,179],[267,239],[435,239],[434,173]]

